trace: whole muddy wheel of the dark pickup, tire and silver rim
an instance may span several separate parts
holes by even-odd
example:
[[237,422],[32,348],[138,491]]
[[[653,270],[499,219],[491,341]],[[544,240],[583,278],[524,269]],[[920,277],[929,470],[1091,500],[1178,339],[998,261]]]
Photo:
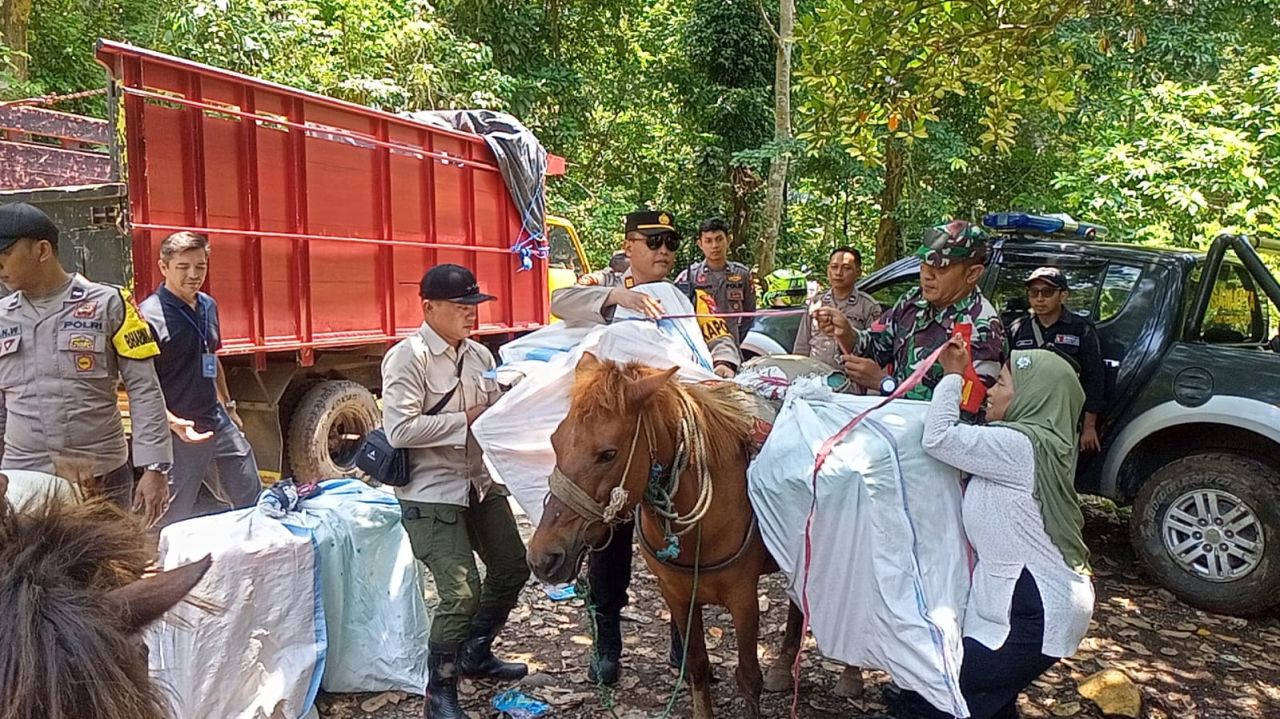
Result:
[[1228,452],[1175,459],[1143,485],[1129,537],[1179,599],[1253,615],[1280,603],[1280,472]]

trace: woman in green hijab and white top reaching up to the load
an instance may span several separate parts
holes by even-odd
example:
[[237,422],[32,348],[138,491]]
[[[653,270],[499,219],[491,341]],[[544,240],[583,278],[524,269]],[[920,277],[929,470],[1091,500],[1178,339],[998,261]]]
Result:
[[[987,397],[988,425],[960,422],[964,340],[941,357],[924,450],[973,475],[964,527],[978,562],[964,618],[960,691],[974,719],[1016,719],[1018,693],[1071,656],[1093,615],[1089,551],[1075,494],[1084,390],[1047,349],[1015,351]],[[911,692],[895,716],[950,716]]]

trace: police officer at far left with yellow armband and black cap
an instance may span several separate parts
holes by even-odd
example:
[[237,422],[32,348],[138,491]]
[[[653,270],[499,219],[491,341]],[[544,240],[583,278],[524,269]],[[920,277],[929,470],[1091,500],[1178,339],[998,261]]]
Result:
[[[58,228],[22,202],[0,207],[0,467],[92,481],[148,522],[169,502],[173,463],[151,329],[116,288],[68,274]],[[116,406],[129,395],[137,489]]]

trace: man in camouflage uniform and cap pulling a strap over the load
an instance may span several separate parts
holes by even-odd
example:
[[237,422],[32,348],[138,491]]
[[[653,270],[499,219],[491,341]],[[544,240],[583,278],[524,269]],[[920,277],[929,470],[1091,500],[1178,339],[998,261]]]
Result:
[[[920,361],[968,325],[973,367],[984,388],[995,385],[1007,356],[1007,340],[1000,313],[978,289],[988,248],[987,234],[964,220],[925,229],[916,251],[920,287],[899,299],[878,322],[855,331],[840,312],[818,310],[819,329],[854,348],[844,358],[845,374],[861,386],[890,394]],[[942,366],[934,365],[906,397],[931,399],[940,380]],[[978,397],[982,394],[984,389],[979,388]]]

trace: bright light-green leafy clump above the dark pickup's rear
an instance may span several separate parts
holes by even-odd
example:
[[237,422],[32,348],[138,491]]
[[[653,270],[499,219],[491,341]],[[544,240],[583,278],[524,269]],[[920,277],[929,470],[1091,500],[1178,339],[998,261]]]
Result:
[[1060,170],[1062,203],[1153,244],[1203,244],[1280,223],[1280,58],[1225,58],[1216,82],[1161,82],[1114,99]]

